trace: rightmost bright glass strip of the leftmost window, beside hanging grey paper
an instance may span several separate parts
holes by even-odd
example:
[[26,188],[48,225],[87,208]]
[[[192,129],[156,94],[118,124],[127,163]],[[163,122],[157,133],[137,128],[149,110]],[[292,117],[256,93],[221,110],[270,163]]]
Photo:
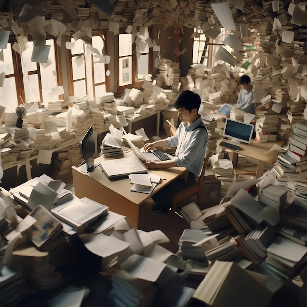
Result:
[[54,95],[51,92],[52,87],[56,87],[57,78],[56,78],[56,60],[54,52],[54,41],[48,40],[48,45],[51,45],[48,58],[51,61],[50,65],[40,64],[41,72],[41,82],[42,82],[42,93],[43,93],[43,102],[51,102],[58,100],[58,95]]

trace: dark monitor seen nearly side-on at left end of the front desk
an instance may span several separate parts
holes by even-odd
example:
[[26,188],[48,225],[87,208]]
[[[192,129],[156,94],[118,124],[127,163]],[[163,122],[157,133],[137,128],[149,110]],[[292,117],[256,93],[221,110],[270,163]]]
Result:
[[88,128],[84,134],[82,140],[79,142],[79,149],[84,161],[81,163],[86,163],[86,171],[92,171],[97,165],[94,164],[94,154],[95,154],[95,142],[94,142],[94,131],[91,126]]

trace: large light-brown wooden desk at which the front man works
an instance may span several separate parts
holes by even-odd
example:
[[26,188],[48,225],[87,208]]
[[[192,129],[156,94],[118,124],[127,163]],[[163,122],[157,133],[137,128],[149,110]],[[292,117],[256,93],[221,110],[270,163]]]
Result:
[[[124,156],[134,156],[134,153],[130,151],[125,153]],[[111,159],[114,159],[114,157],[104,158],[101,156],[95,159],[95,163]],[[78,168],[72,167],[75,195],[79,198],[88,197],[103,205],[107,205],[110,211],[127,216],[135,224],[136,228],[139,221],[139,205],[174,179],[178,177],[187,178],[187,169],[185,167],[149,170],[151,173],[159,175],[166,180],[161,180],[161,183],[156,186],[151,194],[145,194],[130,191],[132,187],[131,180],[127,177],[108,179],[100,166],[97,166],[90,173],[85,173],[85,171],[86,165]]]

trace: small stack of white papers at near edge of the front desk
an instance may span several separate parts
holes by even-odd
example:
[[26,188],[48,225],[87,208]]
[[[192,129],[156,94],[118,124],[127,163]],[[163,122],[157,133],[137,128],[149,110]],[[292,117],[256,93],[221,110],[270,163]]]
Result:
[[133,184],[130,191],[150,194],[158,185],[161,178],[153,174],[130,174],[129,178]]

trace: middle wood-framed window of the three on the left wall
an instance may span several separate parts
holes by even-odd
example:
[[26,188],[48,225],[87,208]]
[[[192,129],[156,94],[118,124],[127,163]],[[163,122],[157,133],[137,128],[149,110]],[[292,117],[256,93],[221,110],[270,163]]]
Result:
[[[88,96],[89,99],[94,99],[109,91],[109,61],[108,57],[104,56],[107,54],[106,37],[106,33],[93,32],[91,46],[84,44],[81,39],[70,39],[74,43],[74,48],[67,51],[70,96]],[[93,47],[96,51],[88,47]],[[102,50],[105,51],[104,54]]]

